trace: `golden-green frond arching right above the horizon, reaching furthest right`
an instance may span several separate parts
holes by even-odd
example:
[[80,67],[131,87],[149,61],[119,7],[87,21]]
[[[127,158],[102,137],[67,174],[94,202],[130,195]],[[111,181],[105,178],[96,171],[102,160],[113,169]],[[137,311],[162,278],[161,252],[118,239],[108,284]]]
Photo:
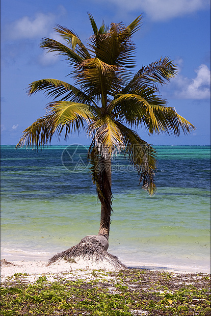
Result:
[[167,102],[153,94],[153,89],[145,89],[142,95],[124,94],[110,103],[113,113],[131,126],[144,125],[149,135],[172,134],[179,136],[190,133],[195,126],[179,116]]

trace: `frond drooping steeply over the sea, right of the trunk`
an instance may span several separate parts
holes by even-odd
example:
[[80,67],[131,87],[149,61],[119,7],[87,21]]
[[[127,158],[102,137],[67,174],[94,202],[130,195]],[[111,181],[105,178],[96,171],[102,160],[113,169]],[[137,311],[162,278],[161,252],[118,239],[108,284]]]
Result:
[[120,122],[116,123],[123,136],[124,156],[135,167],[140,176],[139,184],[143,181],[142,189],[150,195],[155,194],[154,171],[156,170],[156,151],[142,140],[136,131],[131,130]]

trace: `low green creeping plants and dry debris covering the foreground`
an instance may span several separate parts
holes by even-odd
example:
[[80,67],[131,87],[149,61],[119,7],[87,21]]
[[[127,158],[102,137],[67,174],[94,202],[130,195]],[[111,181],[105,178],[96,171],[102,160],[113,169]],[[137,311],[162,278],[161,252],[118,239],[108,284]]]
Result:
[[23,282],[21,276],[18,284],[6,280],[1,286],[1,315],[210,315],[208,274],[170,273],[172,279],[165,285],[167,272],[145,271],[140,277],[138,269],[128,269],[121,278],[112,272],[107,279],[103,271],[95,273],[92,282],[59,276],[49,281],[47,275],[34,283]]

